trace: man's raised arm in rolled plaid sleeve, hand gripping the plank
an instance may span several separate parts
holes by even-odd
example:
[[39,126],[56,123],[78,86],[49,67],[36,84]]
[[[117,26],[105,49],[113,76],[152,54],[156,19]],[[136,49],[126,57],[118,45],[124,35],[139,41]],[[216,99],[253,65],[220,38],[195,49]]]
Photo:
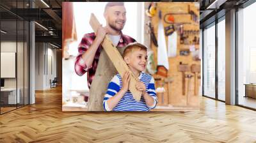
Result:
[[92,67],[95,54],[100,46],[100,43],[104,40],[106,30],[100,26],[97,33],[99,34],[97,34],[95,40],[92,41],[92,45],[90,45],[90,43],[88,43],[86,40],[81,41],[81,44],[87,47],[82,47],[82,49],[79,49],[79,55],[77,56],[75,63],[75,71],[77,75],[82,76],[89,68]]

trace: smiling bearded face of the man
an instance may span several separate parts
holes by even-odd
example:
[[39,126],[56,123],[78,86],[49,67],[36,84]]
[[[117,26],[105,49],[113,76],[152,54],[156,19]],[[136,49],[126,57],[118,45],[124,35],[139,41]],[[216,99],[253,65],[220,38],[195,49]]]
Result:
[[111,6],[105,11],[107,24],[116,31],[121,31],[126,22],[126,11],[124,6]]

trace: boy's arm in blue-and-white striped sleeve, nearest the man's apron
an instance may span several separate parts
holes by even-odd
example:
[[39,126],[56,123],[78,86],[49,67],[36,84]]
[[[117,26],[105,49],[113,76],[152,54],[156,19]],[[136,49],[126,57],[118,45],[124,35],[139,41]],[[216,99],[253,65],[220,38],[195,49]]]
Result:
[[110,111],[118,104],[118,102],[122,99],[125,92],[129,87],[130,76],[128,72],[125,72],[123,79],[123,86],[120,89],[120,80],[115,75],[111,82],[109,82],[107,94],[104,96],[103,107],[104,110]]

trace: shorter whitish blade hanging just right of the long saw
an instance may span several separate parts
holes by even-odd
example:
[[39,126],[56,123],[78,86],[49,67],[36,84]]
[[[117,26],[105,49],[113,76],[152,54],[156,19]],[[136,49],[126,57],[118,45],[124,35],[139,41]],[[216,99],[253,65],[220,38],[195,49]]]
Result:
[[167,37],[168,40],[168,57],[177,56],[177,32],[174,31]]

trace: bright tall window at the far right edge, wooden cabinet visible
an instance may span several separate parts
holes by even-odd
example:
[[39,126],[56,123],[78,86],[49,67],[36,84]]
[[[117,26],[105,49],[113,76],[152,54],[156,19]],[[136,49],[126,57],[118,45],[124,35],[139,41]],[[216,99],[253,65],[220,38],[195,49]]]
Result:
[[256,3],[237,12],[238,104],[256,109]]

